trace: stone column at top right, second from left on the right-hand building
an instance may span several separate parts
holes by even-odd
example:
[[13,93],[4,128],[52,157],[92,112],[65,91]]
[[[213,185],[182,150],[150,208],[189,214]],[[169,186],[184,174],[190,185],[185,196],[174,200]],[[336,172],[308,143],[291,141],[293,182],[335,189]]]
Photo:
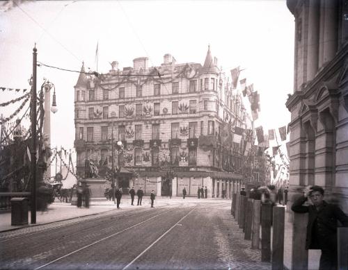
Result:
[[338,44],[338,1],[325,0],[324,19],[324,63],[329,62],[337,52]]

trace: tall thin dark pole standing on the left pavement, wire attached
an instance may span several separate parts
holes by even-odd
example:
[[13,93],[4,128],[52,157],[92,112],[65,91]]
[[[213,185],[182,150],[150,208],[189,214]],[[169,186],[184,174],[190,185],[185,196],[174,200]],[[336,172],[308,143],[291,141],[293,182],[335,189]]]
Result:
[[38,49],[33,48],[33,83],[31,85],[31,224],[36,223],[36,57]]

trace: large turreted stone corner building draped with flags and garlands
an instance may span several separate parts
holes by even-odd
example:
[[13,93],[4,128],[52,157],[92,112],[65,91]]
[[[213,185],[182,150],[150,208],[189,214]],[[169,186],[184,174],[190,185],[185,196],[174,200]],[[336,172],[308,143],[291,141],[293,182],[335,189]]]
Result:
[[[91,160],[104,176],[106,168],[121,169],[116,185],[155,189],[159,196],[231,194],[242,183],[243,144],[232,131],[253,128],[228,76],[207,51],[204,65],[177,63],[170,54],[159,67],[136,58],[133,67],[104,75],[86,73],[75,85],[77,174],[85,176]],[[111,153],[111,136],[116,144]],[[127,174],[127,171],[132,173]]]

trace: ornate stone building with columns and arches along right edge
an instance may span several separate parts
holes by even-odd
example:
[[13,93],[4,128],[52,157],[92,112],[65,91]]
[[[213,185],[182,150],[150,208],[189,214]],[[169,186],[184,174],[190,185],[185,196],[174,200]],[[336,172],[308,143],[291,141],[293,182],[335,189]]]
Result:
[[287,8],[295,35],[294,92],[286,103],[291,134],[285,246],[292,250],[285,251],[285,266],[307,269],[307,217],[290,212],[296,196],[307,185],[320,185],[326,201],[348,212],[348,1],[287,0]]

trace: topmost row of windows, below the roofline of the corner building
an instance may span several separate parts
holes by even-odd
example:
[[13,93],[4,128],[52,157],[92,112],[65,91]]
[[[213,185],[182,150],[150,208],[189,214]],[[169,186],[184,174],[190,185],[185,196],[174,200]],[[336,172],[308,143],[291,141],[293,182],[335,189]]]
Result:
[[[189,81],[189,93],[194,93],[198,91],[197,81],[198,80]],[[201,78],[199,82],[200,82],[199,84],[200,91],[207,91],[207,90],[216,91],[216,85],[217,85],[216,78],[204,78],[204,81],[203,81],[203,78]],[[210,87],[209,87],[209,84],[210,84]],[[108,100],[110,90],[102,90],[102,91],[103,91],[103,100]],[[153,94],[154,96],[161,95],[161,84],[159,83],[154,84]],[[172,83],[172,94],[179,94],[179,82]],[[139,85],[138,87],[136,87],[136,97],[141,97],[141,96],[143,96],[143,89]],[[118,88],[118,98],[125,99],[125,87]],[[88,90],[88,100],[89,101],[97,100],[95,99],[95,90]],[[79,90],[77,91],[77,101],[86,101],[86,91],[81,90],[81,95],[80,95],[80,91]]]

